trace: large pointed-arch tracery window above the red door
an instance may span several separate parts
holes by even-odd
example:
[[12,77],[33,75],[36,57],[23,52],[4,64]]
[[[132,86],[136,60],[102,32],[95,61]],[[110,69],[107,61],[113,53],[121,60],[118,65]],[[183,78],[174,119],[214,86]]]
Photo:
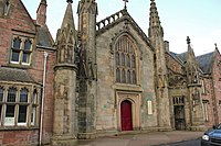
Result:
[[136,54],[133,42],[126,36],[115,44],[116,82],[137,85]]

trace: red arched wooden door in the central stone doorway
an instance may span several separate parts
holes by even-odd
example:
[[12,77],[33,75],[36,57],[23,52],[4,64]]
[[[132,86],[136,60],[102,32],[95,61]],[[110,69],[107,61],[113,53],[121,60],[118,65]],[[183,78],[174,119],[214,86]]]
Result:
[[122,131],[133,131],[131,102],[125,100],[120,104]]

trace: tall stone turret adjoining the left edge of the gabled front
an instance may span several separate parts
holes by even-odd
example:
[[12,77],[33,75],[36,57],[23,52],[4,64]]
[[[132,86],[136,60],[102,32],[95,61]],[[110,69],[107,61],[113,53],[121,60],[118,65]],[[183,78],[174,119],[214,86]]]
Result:
[[81,0],[78,2],[77,14],[78,37],[81,41],[77,136],[78,138],[94,138],[97,88],[95,49],[97,4],[95,0]]

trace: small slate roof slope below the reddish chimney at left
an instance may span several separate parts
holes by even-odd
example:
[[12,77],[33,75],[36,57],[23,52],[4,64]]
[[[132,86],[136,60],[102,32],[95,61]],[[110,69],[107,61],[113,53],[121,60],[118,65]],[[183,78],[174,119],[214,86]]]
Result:
[[54,41],[46,25],[38,27],[36,45],[41,47],[53,47]]

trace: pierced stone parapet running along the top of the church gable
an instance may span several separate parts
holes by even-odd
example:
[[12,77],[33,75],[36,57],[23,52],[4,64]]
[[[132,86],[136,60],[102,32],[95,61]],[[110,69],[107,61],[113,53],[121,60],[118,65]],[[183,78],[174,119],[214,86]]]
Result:
[[137,31],[137,33],[143,37],[143,40],[150,46],[149,38],[139,27],[139,25],[134,21],[134,19],[129,15],[126,9],[123,9],[110,16],[99,21],[96,23],[96,33],[97,35],[106,32],[110,27],[114,27],[120,22],[126,21],[127,23],[131,24],[131,26]]

